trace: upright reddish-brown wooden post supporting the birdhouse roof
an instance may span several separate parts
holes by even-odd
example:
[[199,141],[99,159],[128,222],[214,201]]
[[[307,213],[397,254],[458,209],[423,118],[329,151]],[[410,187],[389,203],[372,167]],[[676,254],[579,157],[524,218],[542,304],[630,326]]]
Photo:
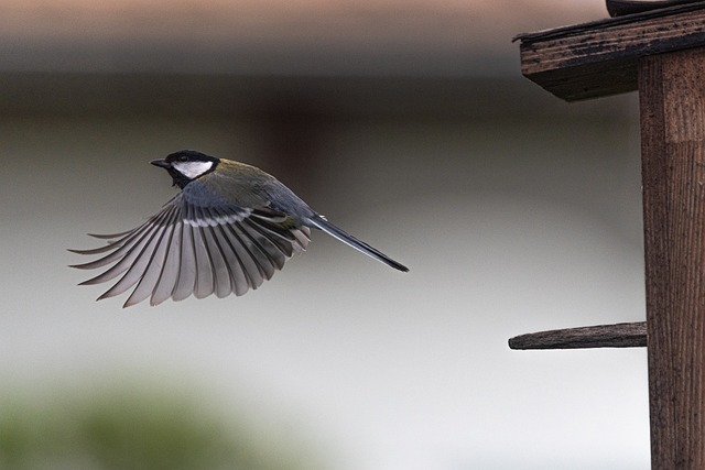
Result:
[[639,64],[653,469],[705,469],[705,48]]

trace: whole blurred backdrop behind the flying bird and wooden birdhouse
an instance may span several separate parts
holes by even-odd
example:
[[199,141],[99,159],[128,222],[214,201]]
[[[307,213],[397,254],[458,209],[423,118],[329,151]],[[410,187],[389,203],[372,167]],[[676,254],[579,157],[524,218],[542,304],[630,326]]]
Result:
[[[3,0],[0,468],[641,469],[636,96],[567,105],[512,37],[573,1]],[[243,297],[94,299],[66,248],[173,194],[181,149],[276,175],[314,233]]]

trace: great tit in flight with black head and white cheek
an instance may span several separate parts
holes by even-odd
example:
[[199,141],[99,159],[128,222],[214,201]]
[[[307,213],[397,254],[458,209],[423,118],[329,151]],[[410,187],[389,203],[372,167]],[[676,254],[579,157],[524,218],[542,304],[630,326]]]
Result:
[[[263,171],[193,150],[154,160],[181,192],[143,225],[122,233],[91,234],[107,240],[93,250],[69,250],[102,258],[72,267],[112,264],[80,285],[120,280],[98,297],[122,294],[137,284],[123,307],[150,297],[151,305],[194,294],[225,297],[259,287],[294,253],[306,250],[311,228],[356,250],[409,271],[369,244],[344,232],[291,189]],[[107,253],[107,254],[105,254]]]

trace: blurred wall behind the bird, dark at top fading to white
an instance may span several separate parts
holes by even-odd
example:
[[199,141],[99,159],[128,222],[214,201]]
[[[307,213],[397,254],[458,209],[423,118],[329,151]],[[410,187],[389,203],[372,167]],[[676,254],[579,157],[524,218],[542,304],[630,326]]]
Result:
[[[247,74],[23,47],[53,65],[0,70],[7,386],[142,371],[284,416],[335,469],[648,466],[644,351],[506,342],[643,318],[634,96],[563,103],[501,52],[459,73]],[[275,174],[411,272],[315,233],[241,298],[95,304],[64,249],[156,211],[174,189],[148,162],[183,147]]]

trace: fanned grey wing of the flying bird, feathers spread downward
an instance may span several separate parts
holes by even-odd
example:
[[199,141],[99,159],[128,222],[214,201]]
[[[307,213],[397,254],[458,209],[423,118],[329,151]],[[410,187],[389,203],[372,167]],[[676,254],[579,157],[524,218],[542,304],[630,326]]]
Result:
[[73,267],[107,267],[82,283],[100,284],[120,276],[98,299],[134,286],[124,307],[150,297],[151,305],[167,298],[182,300],[194,294],[225,297],[259,287],[281,270],[294,253],[306,249],[307,227],[296,227],[285,214],[269,207],[257,209],[219,203],[204,206],[182,192],[143,225],[122,233],[91,236],[108,240],[94,250],[96,261]]

